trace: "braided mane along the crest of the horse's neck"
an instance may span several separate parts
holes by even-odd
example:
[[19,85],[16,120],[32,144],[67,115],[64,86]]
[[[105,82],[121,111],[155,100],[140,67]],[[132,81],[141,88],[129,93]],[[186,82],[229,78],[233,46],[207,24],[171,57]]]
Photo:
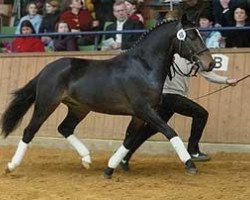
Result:
[[166,23],[171,23],[171,22],[176,22],[178,20],[175,20],[175,19],[170,19],[170,20],[167,20],[167,19],[163,19],[161,22],[157,23],[154,27],[148,29],[146,32],[144,32],[140,38],[132,45],[132,47],[130,47],[129,49],[126,49],[124,51],[122,51],[121,53],[126,53],[126,52],[130,52],[131,50],[135,49],[135,47],[138,46],[138,44],[140,44],[148,35],[150,35],[152,32],[154,32],[155,30],[157,30],[159,27],[161,27],[163,24],[166,24]]

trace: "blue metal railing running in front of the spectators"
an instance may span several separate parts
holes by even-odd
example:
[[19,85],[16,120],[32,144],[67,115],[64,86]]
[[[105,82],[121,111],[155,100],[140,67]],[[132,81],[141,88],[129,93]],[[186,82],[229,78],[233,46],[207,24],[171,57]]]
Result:
[[[219,32],[225,32],[225,31],[236,31],[236,30],[249,30],[250,32],[250,26],[246,27],[213,27],[213,28],[198,28],[201,32],[206,31],[219,31]],[[83,32],[69,32],[69,33],[36,33],[36,34],[2,34],[0,33],[0,39],[1,38],[16,38],[16,37],[42,37],[42,36],[84,36],[84,35],[94,35],[94,50],[98,50],[99,41],[102,35],[110,35],[110,34],[142,34],[149,31],[148,29],[143,30],[123,30],[123,31],[83,31]]]

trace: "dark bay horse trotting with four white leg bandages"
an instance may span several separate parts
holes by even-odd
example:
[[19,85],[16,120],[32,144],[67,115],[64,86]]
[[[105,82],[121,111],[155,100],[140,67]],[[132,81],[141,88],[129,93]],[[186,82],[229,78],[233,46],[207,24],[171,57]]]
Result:
[[[48,64],[35,78],[14,93],[2,115],[2,134],[7,137],[34,103],[34,112],[15,155],[7,165],[13,171],[20,165],[29,142],[60,103],[68,114],[58,131],[82,157],[91,163],[89,150],[73,135],[74,129],[90,111],[131,115],[130,126],[143,121],[151,124],[170,140],[186,170],[196,173],[182,140],[155,111],[160,102],[163,83],[170,71],[173,55],[180,54],[194,65],[210,71],[214,61],[198,30],[186,17],[182,21],[163,22],[141,37],[135,46],[108,60],[61,58]],[[131,134],[115,152],[104,171],[107,178],[132,146]]]

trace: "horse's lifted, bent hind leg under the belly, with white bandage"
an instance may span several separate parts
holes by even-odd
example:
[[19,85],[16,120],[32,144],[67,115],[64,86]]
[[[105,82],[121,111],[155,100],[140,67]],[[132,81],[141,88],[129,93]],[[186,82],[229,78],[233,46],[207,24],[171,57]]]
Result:
[[90,168],[91,158],[88,148],[75,136],[74,130],[76,126],[86,117],[89,111],[73,111],[69,107],[68,114],[63,122],[58,126],[58,131],[68,140],[72,147],[82,157],[82,165]]

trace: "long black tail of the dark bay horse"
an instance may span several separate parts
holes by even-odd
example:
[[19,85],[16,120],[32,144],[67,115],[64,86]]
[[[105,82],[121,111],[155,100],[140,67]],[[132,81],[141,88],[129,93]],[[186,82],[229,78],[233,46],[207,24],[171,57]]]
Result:
[[38,77],[35,77],[23,88],[13,93],[14,98],[3,113],[1,119],[1,134],[4,135],[5,138],[18,127],[19,122],[34,103],[37,79]]

